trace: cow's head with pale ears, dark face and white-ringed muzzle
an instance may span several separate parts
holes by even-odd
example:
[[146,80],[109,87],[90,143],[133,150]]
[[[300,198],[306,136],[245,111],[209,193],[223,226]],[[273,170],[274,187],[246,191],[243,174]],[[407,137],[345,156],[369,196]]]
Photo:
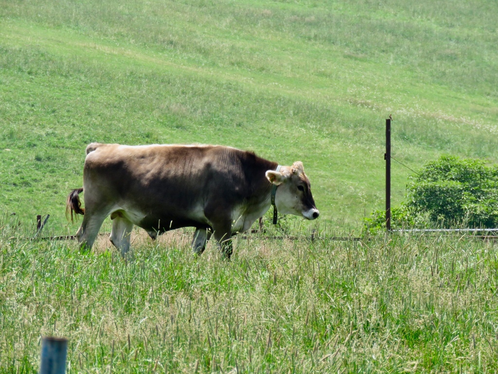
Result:
[[271,184],[278,186],[275,205],[280,213],[302,215],[307,219],[318,218],[320,212],[315,206],[310,181],[304,174],[302,162],[282,166],[278,172],[268,170],[266,178]]

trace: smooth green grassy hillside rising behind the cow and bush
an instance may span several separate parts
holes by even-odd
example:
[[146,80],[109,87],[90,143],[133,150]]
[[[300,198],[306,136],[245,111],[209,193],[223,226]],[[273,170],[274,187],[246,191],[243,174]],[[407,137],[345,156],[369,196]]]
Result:
[[389,114],[412,169],[497,161],[497,24],[477,0],[0,0],[0,209],[74,232],[89,142],[197,142],[303,161],[321,218],[355,226],[383,206]]

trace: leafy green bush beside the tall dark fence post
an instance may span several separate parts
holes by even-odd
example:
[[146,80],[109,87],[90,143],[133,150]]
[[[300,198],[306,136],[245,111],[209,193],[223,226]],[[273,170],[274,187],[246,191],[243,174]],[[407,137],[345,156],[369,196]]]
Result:
[[[442,156],[410,177],[406,202],[391,208],[391,228],[498,227],[498,168],[483,160]],[[385,210],[364,218],[364,230],[385,228]]]

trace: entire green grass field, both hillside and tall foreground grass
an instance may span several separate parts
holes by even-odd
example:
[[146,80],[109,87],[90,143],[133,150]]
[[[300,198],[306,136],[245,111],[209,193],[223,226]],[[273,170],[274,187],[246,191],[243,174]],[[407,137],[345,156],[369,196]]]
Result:
[[[352,236],[382,208],[384,123],[413,170],[498,161],[493,1],[0,0],[0,373],[495,373],[497,247]],[[296,241],[195,257],[191,231],[134,260],[74,234],[86,145],[216,143],[304,163],[320,218]],[[393,205],[412,172],[393,162]],[[15,215],[13,215],[15,213]],[[267,227],[268,230],[273,230]]]

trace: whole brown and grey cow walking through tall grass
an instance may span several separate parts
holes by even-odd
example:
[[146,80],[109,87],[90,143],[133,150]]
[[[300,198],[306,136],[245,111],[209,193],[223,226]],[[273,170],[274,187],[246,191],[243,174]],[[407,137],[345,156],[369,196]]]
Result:
[[232,236],[248,230],[272,204],[309,220],[320,214],[299,161],[279,166],[253,152],[212,145],[91,143],[86,154],[83,187],[73,189],[66,203],[68,219],[84,215],[76,237],[86,250],[109,215],[110,239],[123,257],[137,225],[152,239],[195,227],[194,252],[201,254],[214,235],[230,258]]

